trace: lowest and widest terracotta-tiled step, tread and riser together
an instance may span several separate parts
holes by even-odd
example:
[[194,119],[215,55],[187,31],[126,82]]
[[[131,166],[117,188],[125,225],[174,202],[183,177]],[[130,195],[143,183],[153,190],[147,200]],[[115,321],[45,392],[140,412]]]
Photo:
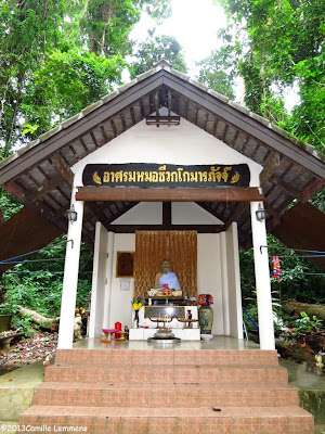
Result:
[[314,431],[312,416],[298,406],[217,410],[199,405],[188,408],[31,406],[23,412],[20,423],[44,426],[48,432],[72,426],[93,434],[311,434]]

